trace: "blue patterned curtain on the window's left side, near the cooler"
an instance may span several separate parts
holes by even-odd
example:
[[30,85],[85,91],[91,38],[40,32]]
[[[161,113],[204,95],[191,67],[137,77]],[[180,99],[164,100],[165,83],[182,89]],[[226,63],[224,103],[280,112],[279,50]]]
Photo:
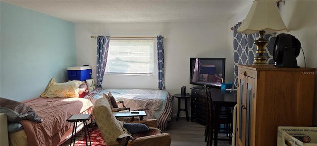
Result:
[[96,88],[102,88],[106,62],[109,49],[110,36],[97,37],[97,84]]

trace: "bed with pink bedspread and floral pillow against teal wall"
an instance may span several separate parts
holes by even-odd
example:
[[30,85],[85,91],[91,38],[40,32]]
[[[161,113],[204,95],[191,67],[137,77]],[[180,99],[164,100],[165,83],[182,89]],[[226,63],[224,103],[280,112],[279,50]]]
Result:
[[[93,113],[92,102],[79,97],[82,85],[86,84],[81,81],[56,83],[52,78],[40,97],[22,102],[0,98],[6,102],[0,103],[1,112],[11,115],[8,122],[23,128],[9,132],[10,146],[59,146],[69,139],[73,123],[66,120],[73,114]],[[19,114],[14,117],[14,113]],[[82,127],[83,123],[78,122],[77,131]]]

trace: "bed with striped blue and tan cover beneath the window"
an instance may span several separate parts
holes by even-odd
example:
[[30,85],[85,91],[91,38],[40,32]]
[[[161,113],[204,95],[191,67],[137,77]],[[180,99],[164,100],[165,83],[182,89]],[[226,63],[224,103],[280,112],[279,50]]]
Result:
[[157,119],[159,129],[164,130],[168,127],[173,101],[173,96],[168,92],[154,89],[96,89],[84,98],[94,104],[98,98],[103,97],[103,94],[108,95],[109,92],[115,100],[123,101],[130,110],[144,110],[147,113],[144,119]]

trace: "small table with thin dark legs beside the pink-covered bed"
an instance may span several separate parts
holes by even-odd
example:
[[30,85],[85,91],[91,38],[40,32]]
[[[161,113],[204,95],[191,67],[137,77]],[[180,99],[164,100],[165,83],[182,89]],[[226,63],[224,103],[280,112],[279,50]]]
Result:
[[91,117],[91,114],[74,114],[74,115],[70,116],[66,120],[67,122],[74,122],[73,131],[72,131],[71,137],[70,137],[70,146],[71,146],[71,143],[72,143],[72,140],[73,140],[72,139],[73,136],[74,136],[74,145],[73,146],[75,146],[77,122],[83,122],[84,123],[83,131],[85,133],[86,146],[88,146],[86,131],[87,131],[88,138],[89,138],[89,143],[90,143],[90,146],[91,146],[90,135],[89,135],[88,127],[87,127],[87,120],[89,120],[90,117]]

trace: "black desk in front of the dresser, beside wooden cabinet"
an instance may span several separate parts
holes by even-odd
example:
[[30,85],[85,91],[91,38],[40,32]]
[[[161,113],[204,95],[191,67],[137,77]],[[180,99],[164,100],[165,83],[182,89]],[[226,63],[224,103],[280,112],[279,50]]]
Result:
[[[217,88],[209,88],[211,90],[211,98],[213,101],[214,111],[214,125],[218,125],[216,117],[219,117],[219,107],[233,107],[237,104],[237,91],[225,91]],[[218,126],[214,126],[213,146],[218,144]]]

